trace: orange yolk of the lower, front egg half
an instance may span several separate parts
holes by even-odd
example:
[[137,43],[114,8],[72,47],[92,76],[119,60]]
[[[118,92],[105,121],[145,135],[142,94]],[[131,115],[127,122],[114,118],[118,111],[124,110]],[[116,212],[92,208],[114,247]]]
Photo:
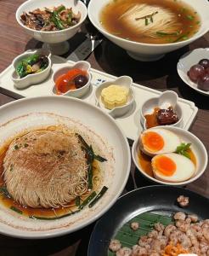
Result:
[[176,171],[176,168],[177,166],[175,162],[165,155],[158,157],[155,160],[155,169],[165,176],[172,176]]

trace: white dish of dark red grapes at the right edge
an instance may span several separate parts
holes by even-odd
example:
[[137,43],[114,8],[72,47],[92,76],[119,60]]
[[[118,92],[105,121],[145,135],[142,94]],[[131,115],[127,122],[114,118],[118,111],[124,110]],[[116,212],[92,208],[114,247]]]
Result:
[[183,55],[177,68],[184,83],[209,96],[209,48],[195,49]]

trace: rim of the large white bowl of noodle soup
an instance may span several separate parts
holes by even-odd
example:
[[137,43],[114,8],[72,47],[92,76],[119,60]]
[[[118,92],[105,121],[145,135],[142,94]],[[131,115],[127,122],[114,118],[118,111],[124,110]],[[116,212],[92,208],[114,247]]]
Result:
[[[98,1],[98,0],[97,0]],[[208,4],[208,8],[209,8],[209,2],[207,3]],[[206,26],[207,29],[203,30],[200,34],[200,30],[201,30],[201,27],[202,27],[202,19],[201,19],[201,27],[199,29],[198,32],[195,33],[194,36],[192,36],[191,38],[188,38],[187,40],[184,40],[184,41],[180,41],[180,42],[176,42],[176,43],[169,43],[169,44],[145,44],[145,43],[139,43],[139,42],[136,42],[136,41],[132,41],[132,40],[127,40],[125,38],[120,38],[120,37],[116,37],[115,35],[107,32],[106,30],[104,30],[104,28],[102,26],[98,26],[97,24],[95,24],[95,22],[93,22],[93,18],[91,16],[91,12],[90,12],[90,9],[93,8],[93,0],[91,0],[89,3],[88,3],[88,18],[89,20],[92,22],[93,26],[95,26],[99,32],[103,33],[105,36],[108,36],[110,38],[115,38],[115,39],[119,39],[121,40],[122,42],[128,42],[129,44],[133,44],[133,45],[147,45],[147,46],[155,46],[157,48],[163,46],[163,47],[168,47],[168,46],[171,46],[171,45],[179,45],[179,44],[184,44],[184,43],[191,43],[193,41],[195,41],[196,39],[198,38],[201,38],[203,35],[206,34],[206,32],[209,31],[209,26]],[[102,8],[101,8],[102,9]],[[101,9],[99,10],[99,12],[101,12]],[[199,14],[200,15],[200,14]],[[201,15],[200,15],[201,16]],[[185,44],[187,45],[187,44]]]

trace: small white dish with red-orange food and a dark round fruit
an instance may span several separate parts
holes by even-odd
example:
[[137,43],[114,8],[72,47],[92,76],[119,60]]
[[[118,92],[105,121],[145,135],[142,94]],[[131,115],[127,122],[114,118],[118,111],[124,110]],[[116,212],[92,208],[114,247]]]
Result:
[[62,67],[53,75],[53,94],[82,98],[91,85],[90,64],[77,61],[73,66]]

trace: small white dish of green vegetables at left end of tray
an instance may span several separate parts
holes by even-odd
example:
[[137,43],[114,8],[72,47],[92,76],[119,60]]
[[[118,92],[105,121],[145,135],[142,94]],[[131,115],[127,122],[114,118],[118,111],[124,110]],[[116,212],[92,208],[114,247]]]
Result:
[[28,50],[13,61],[12,80],[18,89],[39,84],[48,78],[51,70],[51,54],[43,50]]

